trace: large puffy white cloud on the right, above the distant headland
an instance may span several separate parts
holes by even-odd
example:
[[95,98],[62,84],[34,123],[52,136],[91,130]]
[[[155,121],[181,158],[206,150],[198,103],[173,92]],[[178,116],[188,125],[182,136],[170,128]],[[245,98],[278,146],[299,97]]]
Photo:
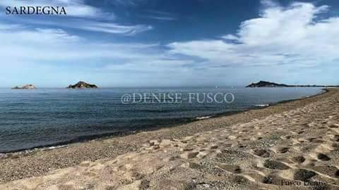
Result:
[[206,59],[210,68],[311,66],[333,63],[338,58],[339,18],[319,17],[328,11],[328,6],[269,5],[259,18],[244,21],[237,34],[225,34],[218,40],[174,42],[168,44],[170,52]]

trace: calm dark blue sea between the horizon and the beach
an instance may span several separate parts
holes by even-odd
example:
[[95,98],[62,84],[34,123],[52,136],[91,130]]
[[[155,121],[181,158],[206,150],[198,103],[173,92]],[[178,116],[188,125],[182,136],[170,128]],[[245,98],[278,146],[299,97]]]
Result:
[[[126,93],[222,92],[233,103],[123,104]],[[321,92],[320,88],[0,89],[0,152],[81,141],[107,134],[165,127]]]

